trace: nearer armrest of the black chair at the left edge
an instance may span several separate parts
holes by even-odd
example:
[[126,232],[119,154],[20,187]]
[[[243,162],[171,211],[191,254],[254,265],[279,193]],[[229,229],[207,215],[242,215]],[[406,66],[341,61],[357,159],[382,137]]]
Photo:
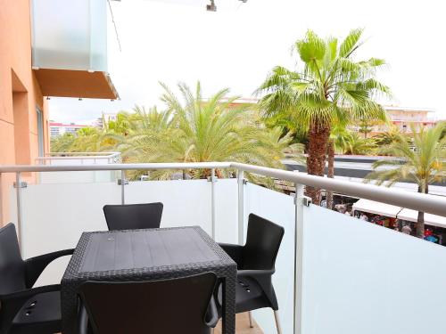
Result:
[[[12,322],[15,315],[21,310],[21,307],[31,298],[45,292],[60,291],[61,285],[45,285],[34,289],[26,289],[10,294],[0,295],[0,305],[2,308],[2,319],[4,322]],[[2,326],[0,325],[0,328]]]

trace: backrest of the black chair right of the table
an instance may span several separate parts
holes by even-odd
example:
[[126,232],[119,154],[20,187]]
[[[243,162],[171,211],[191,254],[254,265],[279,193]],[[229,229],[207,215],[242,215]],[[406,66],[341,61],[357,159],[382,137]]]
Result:
[[243,251],[243,269],[274,269],[284,233],[282,226],[251,214]]

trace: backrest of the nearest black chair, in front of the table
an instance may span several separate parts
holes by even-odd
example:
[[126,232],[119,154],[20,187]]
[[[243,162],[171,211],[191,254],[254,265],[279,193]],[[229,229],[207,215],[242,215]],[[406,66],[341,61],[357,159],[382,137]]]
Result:
[[165,281],[87,281],[79,295],[95,334],[208,334],[204,323],[217,276]]

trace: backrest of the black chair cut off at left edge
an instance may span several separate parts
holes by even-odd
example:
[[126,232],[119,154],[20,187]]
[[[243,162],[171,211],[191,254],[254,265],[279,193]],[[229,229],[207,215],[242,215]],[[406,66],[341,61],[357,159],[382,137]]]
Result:
[[14,224],[0,229],[0,295],[26,289],[25,264]]

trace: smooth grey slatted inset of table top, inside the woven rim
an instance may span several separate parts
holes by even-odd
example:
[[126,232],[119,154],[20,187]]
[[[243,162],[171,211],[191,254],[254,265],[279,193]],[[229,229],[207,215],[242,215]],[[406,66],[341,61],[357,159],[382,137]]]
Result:
[[219,257],[194,228],[95,233],[79,273],[186,265]]

